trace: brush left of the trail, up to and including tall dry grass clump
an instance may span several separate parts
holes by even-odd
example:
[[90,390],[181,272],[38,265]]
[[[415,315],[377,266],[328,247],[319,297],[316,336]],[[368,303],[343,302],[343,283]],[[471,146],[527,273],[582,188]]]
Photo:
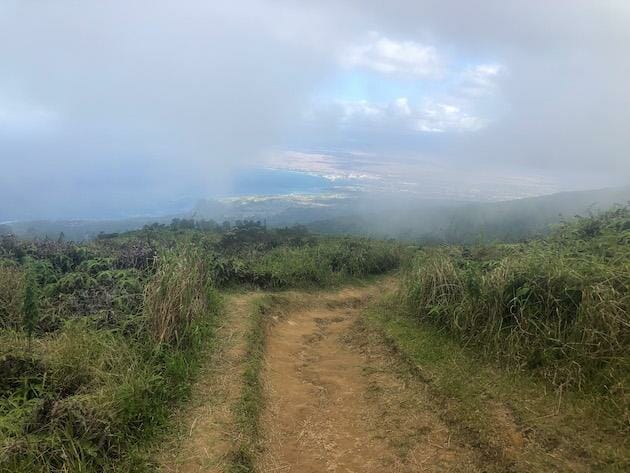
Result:
[[[218,308],[208,279],[191,278],[201,257],[178,253],[184,269],[162,284],[170,259],[139,243],[5,240],[2,250],[0,297],[11,303],[0,331],[0,469],[106,468],[186,389],[209,334],[203,316]],[[186,317],[145,312],[175,304]],[[155,336],[158,322],[177,339]]]

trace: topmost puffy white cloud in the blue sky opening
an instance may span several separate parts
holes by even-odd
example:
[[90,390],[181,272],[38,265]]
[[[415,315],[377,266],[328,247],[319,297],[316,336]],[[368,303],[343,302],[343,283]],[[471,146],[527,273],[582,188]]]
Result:
[[349,68],[418,78],[438,77],[443,68],[442,58],[433,46],[395,41],[374,32],[364,43],[348,47],[340,59]]

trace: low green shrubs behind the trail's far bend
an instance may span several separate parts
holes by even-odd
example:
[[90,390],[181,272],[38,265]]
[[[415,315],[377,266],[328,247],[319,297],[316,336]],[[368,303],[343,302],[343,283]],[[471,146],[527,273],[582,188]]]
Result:
[[[204,248],[219,287],[263,289],[329,286],[347,278],[379,274],[398,266],[403,250],[393,242],[357,237],[316,237],[304,227],[268,229],[260,222],[236,225],[175,220],[134,232],[164,246],[185,239]],[[175,230],[173,230],[175,228]]]

